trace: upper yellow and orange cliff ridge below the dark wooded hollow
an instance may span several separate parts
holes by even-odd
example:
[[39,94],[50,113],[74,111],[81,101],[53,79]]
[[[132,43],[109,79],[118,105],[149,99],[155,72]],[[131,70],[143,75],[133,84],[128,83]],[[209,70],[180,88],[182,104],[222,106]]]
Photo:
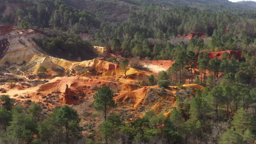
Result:
[[[45,37],[42,33],[28,28],[19,29],[11,27],[1,27],[1,45],[0,67],[5,67],[10,73],[18,75],[38,74],[37,69],[41,66],[48,70],[46,77],[56,76],[76,76],[83,75],[85,71],[89,76],[115,76],[123,75],[124,71],[120,70],[118,64],[92,59],[90,61],[73,62],[66,59],[51,57],[45,54],[32,40],[33,37]],[[95,47],[98,52],[106,52],[106,47]],[[6,65],[8,63],[8,65]],[[83,67],[84,70],[74,70],[75,67]],[[13,69],[10,69],[13,68]],[[138,74],[139,73],[139,74]],[[135,75],[146,75],[142,71],[130,68],[127,71],[130,78]],[[37,78],[46,78],[38,76]],[[129,78],[129,79],[130,79]],[[36,77],[34,77],[36,79]]]

